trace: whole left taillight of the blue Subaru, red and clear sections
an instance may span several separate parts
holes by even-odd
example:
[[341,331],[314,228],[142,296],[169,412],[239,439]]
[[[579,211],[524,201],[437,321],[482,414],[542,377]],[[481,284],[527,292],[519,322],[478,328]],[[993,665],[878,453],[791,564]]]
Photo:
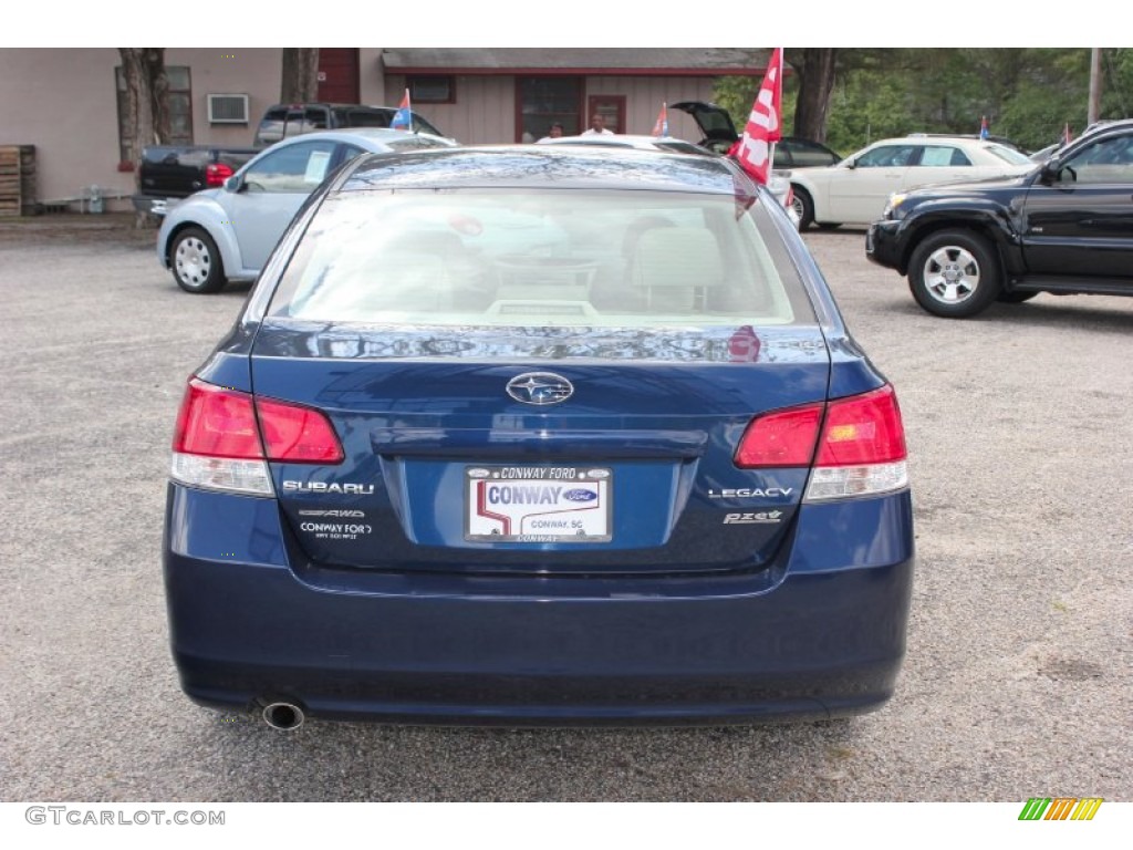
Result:
[[269,460],[338,464],[342,458],[334,428],[321,411],[189,381],[173,433],[174,481],[271,495]]

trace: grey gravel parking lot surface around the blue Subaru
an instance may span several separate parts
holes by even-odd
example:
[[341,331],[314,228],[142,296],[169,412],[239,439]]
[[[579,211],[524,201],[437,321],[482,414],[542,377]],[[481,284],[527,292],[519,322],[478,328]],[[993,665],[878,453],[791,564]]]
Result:
[[184,382],[247,288],[188,296],[153,231],[86,219],[0,227],[0,800],[1133,800],[1133,299],[939,320],[860,230],[807,235],[908,427],[918,577],[883,711],[283,734],[181,695],[161,581]]

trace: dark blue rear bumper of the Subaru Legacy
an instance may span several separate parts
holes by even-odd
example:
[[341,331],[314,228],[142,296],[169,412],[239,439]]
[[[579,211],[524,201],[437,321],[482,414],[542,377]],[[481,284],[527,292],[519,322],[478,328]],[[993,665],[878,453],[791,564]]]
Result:
[[[181,524],[202,499],[246,515],[259,562],[190,551],[196,535]],[[883,704],[904,654],[908,493],[808,505],[789,562],[759,576],[401,573],[372,576],[363,590],[283,563],[287,546],[269,539],[271,500],[174,486],[170,505],[173,656],[186,694],[206,705],[284,699],[316,717],[442,724],[827,719]],[[836,568],[840,559],[858,562]]]

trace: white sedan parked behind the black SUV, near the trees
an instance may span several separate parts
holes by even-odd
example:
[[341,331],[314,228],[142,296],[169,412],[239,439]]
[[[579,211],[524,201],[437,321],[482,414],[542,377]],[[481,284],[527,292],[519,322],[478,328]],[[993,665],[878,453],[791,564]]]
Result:
[[794,171],[791,184],[802,206],[802,228],[834,228],[876,221],[894,193],[1033,169],[1026,155],[997,142],[905,136],[875,142],[833,168]]

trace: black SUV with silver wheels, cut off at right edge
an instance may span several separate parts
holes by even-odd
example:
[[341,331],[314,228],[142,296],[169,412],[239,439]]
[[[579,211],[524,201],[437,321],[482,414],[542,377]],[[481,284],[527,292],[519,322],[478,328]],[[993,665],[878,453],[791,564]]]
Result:
[[866,255],[953,318],[1039,292],[1133,295],[1131,198],[1133,120],[1114,121],[1023,177],[894,195]]

